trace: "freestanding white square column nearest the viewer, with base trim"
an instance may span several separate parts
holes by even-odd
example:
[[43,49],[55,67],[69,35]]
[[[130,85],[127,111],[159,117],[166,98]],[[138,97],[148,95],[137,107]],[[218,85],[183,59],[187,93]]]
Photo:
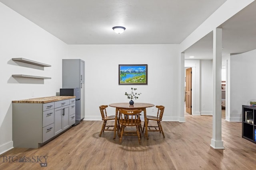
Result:
[[222,29],[213,30],[213,104],[211,147],[224,149],[221,139]]

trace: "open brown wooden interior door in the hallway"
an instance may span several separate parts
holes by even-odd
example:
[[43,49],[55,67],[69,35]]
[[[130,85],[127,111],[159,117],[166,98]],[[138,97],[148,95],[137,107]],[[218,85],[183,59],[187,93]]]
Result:
[[186,69],[186,112],[191,114],[192,108],[192,68]]

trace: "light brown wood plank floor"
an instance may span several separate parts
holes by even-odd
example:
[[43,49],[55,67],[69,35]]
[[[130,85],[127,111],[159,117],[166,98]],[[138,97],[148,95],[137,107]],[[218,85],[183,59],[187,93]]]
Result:
[[[162,122],[165,138],[149,132],[149,140],[124,136],[122,145],[113,132],[99,137],[102,121],[82,121],[40,149],[15,148],[0,155],[0,170],[253,170],[256,144],[241,136],[242,125],[222,119],[224,150],[210,147],[212,116],[185,115],[186,123]],[[4,157],[5,156],[5,157]],[[38,162],[4,158],[48,156]],[[16,157],[14,157],[15,160]],[[8,160],[8,159],[7,159]],[[41,157],[42,162],[44,159]],[[40,162],[40,161],[39,161]]]

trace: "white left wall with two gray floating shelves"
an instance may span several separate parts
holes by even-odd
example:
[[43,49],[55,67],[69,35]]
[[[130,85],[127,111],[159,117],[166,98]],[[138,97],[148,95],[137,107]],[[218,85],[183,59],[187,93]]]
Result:
[[[55,96],[61,88],[62,63],[66,44],[0,3],[0,154],[12,148],[12,100]],[[15,63],[26,58],[52,65],[44,70]],[[16,78],[12,74],[51,77],[50,80]],[[32,96],[32,91],[34,96]],[[25,132],[24,132],[25,133]]]

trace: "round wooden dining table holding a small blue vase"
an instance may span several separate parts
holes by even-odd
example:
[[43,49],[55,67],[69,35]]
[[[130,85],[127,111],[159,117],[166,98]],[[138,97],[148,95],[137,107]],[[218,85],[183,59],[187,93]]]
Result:
[[115,117],[115,127],[114,127],[114,137],[113,139],[116,139],[116,129],[118,129],[118,137],[120,137],[120,129],[117,127],[117,117],[118,117],[118,111],[121,109],[139,109],[144,112],[144,121],[145,121],[145,134],[144,137],[148,139],[148,122],[147,122],[147,115],[146,115],[146,107],[153,107],[154,104],[149,103],[134,103],[133,105],[130,105],[129,103],[113,103],[109,104],[110,107],[116,107],[116,117]]

